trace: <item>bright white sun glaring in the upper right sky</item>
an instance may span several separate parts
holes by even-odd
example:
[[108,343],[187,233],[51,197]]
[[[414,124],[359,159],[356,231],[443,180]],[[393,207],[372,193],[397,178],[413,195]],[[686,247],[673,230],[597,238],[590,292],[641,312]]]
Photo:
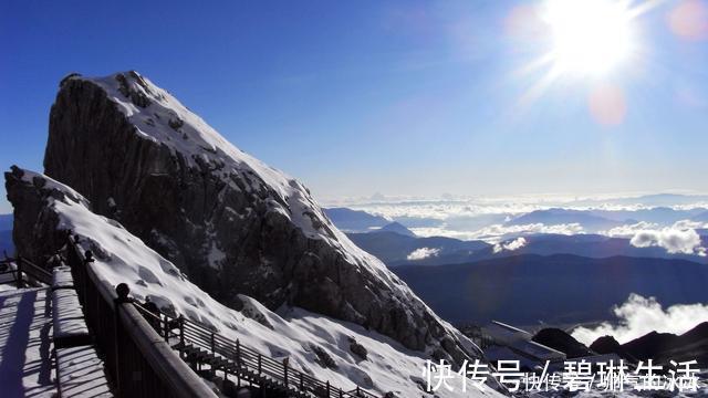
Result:
[[603,74],[632,53],[632,11],[626,1],[548,0],[549,56],[558,73]]

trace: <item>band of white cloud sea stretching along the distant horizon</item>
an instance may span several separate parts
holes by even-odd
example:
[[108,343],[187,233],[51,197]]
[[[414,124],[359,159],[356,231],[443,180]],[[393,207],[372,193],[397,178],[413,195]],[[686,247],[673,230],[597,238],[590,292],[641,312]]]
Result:
[[[637,211],[660,207],[675,210],[708,209],[705,196],[669,196],[660,200],[655,197],[569,197],[569,196],[519,196],[475,198],[385,198],[376,200],[342,201],[331,206],[344,206],[372,214],[396,220],[419,237],[448,237],[461,240],[483,240],[491,244],[502,243],[520,237],[538,233],[579,234],[600,233],[607,237],[631,239],[638,248],[660,247],[669,253],[706,255],[697,229],[708,223],[683,220],[673,226],[637,220],[605,231],[587,231],[577,222],[525,223],[509,222],[513,218],[552,208],[566,210]],[[413,253],[412,253],[413,254]],[[424,253],[418,253],[424,254]],[[431,255],[431,253],[428,253]]]

